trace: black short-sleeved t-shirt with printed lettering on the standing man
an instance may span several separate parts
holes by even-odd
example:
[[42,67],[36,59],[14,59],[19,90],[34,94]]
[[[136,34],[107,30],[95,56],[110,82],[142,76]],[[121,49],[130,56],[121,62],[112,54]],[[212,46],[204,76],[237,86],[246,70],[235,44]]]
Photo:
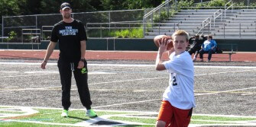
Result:
[[86,30],[81,21],[72,23],[60,21],[55,24],[51,33],[52,42],[59,41],[60,59],[67,62],[77,62],[81,57],[80,41],[87,40]]

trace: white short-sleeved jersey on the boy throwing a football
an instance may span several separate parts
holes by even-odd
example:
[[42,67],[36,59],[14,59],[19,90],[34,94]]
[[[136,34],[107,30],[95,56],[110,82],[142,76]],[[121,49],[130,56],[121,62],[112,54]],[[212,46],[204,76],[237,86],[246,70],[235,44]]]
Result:
[[168,100],[172,106],[182,110],[195,107],[194,97],[194,66],[189,52],[175,56],[163,63],[170,73],[169,86],[164,92],[163,100]]

